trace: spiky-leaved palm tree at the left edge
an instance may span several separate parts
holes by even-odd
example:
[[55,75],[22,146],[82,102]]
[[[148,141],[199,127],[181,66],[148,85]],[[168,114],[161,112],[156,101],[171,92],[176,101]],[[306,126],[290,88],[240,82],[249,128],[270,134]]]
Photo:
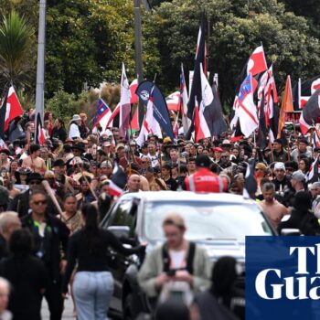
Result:
[[17,88],[29,86],[35,61],[33,36],[32,27],[16,11],[0,21],[0,88],[3,91],[10,83]]

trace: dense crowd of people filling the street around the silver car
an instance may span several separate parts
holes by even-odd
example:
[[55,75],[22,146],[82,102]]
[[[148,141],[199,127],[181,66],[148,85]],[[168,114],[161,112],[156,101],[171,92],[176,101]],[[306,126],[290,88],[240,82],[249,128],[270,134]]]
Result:
[[[254,137],[232,142],[231,133],[197,143],[183,135],[172,140],[150,134],[138,145],[134,136],[127,141],[116,127],[104,133],[91,130],[84,113],[74,114],[67,128],[62,119],[46,112],[47,139],[39,145],[34,142],[32,112],[23,120],[22,136],[5,141],[0,150],[0,289],[4,286],[8,295],[8,283],[14,288],[8,309],[15,319],[40,319],[43,296],[50,319],[61,319],[69,283],[73,283],[79,319],[106,318],[105,304],[110,301],[113,285],[107,272],[106,247],[123,254],[144,251],[143,247],[125,249],[111,232],[98,227],[116,200],[110,186],[118,165],[127,177],[123,192],[189,190],[237,195],[243,194],[251,165],[258,187],[250,196],[260,203],[274,229],[320,233],[320,182],[313,166],[320,148],[302,134],[286,131],[286,140],[275,139],[264,149],[257,147]],[[308,184],[311,169],[315,182]],[[175,251],[185,252],[189,246],[183,240],[183,219],[173,215],[164,221],[163,228],[169,246],[170,234],[181,233],[179,243],[176,239],[171,242],[174,253],[166,252],[180,261]],[[151,295],[168,280],[167,274],[153,267],[162,259],[162,252],[153,254],[139,275],[141,286]],[[219,285],[210,287],[211,270],[206,267],[205,254],[199,249],[194,254],[202,262],[195,267],[186,264],[187,272],[176,276],[196,288],[206,287],[213,296],[222,294],[224,289]],[[230,265],[230,270],[234,269],[234,261],[222,262],[223,268]],[[219,264],[215,268],[221,273]],[[100,299],[93,298],[97,295]],[[208,296],[202,295],[197,296],[197,302],[200,314],[200,306],[210,304]],[[165,311],[159,311],[159,319],[160,314]]]

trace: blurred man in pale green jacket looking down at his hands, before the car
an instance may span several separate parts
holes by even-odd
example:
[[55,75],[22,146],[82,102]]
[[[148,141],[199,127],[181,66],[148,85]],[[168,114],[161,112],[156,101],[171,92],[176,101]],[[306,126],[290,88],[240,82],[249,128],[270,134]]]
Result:
[[138,282],[151,301],[180,297],[186,304],[192,294],[210,286],[211,262],[207,251],[185,239],[186,223],[177,213],[165,216],[165,243],[147,254]]

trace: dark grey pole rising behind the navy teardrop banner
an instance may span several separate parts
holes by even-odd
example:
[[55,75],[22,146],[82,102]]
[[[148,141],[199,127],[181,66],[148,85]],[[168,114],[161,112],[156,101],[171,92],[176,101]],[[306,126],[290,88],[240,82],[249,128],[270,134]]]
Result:
[[[141,31],[141,0],[134,1],[134,48],[135,48],[135,71],[140,84],[144,80],[143,69],[143,46],[142,46],[142,31]],[[138,112],[139,126],[142,127],[144,121],[144,104],[139,99]]]

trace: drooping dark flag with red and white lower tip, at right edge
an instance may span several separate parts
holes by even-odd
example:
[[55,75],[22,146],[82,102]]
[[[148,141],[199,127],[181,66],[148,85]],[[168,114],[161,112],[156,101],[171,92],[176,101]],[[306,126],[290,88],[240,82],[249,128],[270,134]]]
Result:
[[307,133],[320,117],[320,88],[310,97],[301,112],[299,123],[303,134]]

